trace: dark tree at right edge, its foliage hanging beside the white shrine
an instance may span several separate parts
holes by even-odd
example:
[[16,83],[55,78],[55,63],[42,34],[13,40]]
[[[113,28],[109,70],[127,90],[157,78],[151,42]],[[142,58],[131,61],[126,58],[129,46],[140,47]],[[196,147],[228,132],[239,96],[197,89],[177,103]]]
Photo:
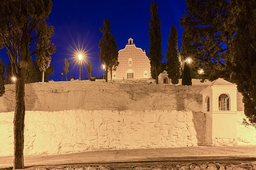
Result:
[[237,0],[237,34],[234,40],[234,72],[243,95],[244,114],[256,127],[256,1]]

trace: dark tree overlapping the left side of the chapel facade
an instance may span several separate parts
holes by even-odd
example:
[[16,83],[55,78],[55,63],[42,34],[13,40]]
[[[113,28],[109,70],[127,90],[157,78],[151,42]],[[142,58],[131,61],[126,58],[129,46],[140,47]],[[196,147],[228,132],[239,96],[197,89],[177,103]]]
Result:
[[100,32],[103,33],[103,36],[99,43],[100,53],[100,62],[105,63],[106,65],[106,82],[108,82],[108,70],[110,70],[110,77],[112,79],[112,70],[115,70],[119,62],[118,58],[118,48],[116,45],[116,39],[110,33],[110,21],[104,19],[103,28],[100,28]]

